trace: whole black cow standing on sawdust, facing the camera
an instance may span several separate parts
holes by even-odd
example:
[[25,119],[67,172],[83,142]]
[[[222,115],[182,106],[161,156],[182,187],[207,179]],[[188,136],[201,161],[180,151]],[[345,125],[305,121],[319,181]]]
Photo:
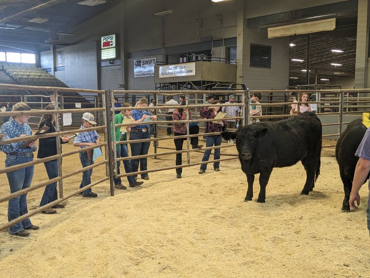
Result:
[[[305,112],[279,122],[252,123],[241,126],[236,132],[222,132],[226,140],[236,139],[236,149],[242,171],[247,175],[248,191],[244,201],[253,198],[254,175],[260,173],[260,192],[257,202],[264,203],[266,185],[272,169],[286,167],[302,161],[307,179],[303,195],[313,190],[320,174],[322,126],[312,112]],[[316,178],[315,178],[316,175]],[[296,176],[299,179],[300,175]]]

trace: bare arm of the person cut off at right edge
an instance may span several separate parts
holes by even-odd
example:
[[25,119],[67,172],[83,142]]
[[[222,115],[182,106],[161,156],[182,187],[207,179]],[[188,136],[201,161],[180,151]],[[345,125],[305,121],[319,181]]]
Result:
[[[360,157],[359,161],[357,161],[356,169],[354,170],[352,190],[349,197],[349,206],[351,209],[358,209],[358,205],[360,205],[359,191],[361,186],[366,181],[369,172],[370,172],[370,160]],[[354,204],[354,201],[357,201],[357,206]]]

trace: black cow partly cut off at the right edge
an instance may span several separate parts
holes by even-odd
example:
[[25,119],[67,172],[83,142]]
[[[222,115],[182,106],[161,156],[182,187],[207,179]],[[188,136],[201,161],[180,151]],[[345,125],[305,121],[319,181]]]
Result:
[[[352,190],[354,169],[359,158],[355,156],[367,128],[363,125],[362,119],[353,120],[346,130],[340,135],[335,148],[335,157],[339,164],[340,178],[344,187],[343,211],[349,211],[349,194]],[[366,181],[369,179],[369,175]],[[366,182],[365,181],[365,182]]]

